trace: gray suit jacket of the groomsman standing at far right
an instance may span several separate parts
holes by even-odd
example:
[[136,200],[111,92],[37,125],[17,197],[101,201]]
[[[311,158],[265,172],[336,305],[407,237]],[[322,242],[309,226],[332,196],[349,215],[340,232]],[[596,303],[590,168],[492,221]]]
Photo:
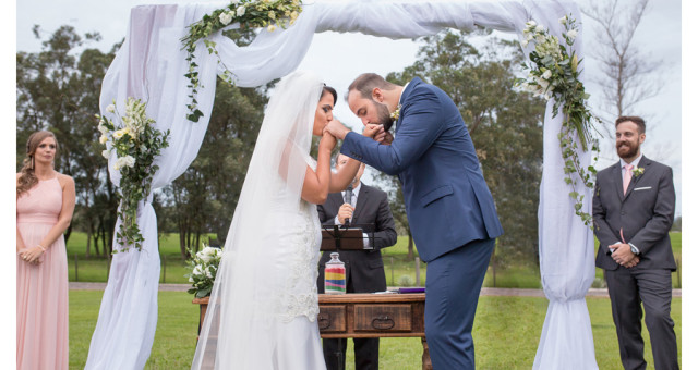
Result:
[[643,174],[633,175],[623,195],[621,162],[597,174],[593,193],[593,226],[599,239],[597,267],[618,268],[609,246],[625,242],[636,246],[640,262],[635,269],[676,270],[669,231],[674,222],[676,195],[672,169],[642,156],[638,168]]

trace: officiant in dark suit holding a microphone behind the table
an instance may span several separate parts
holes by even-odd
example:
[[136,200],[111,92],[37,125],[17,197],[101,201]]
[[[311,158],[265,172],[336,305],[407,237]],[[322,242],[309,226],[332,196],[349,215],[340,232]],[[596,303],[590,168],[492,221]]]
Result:
[[[347,163],[349,157],[337,156],[336,168]],[[361,183],[365,164],[361,163],[359,172],[351,183],[351,190],[333,193],[324,205],[317,206],[320,222],[325,225],[345,224],[349,219],[351,225],[363,229],[364,246],[370,246],[368,236],[374,233],[373,250],[341,250],[339,259],[347,269],[347,293],[385,292],[385,271],[381,249],[395,245],[397,233],[395,221],[385,192]],[[323,252],[320,259],[317,292],[325,292],[325,263],[329,261],[329,251]],[[378,370],[378,338],[354,338],[354,363],[357,370]],[[347,351],[346,340],[323,340],[323,353],[328,370],[344,369]]]

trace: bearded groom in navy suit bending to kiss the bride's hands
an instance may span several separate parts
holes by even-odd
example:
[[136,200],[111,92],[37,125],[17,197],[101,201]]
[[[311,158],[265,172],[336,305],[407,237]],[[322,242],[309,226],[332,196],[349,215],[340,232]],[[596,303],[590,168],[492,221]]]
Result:
[[[417,250],[428,263],[424,324],[432,365],[474,369],[472,323],[503,231],[468,127],[453,100],[420,78],[398,86],[365,73],[349,86],[347,102],[373,140],[338,122],[325,130],[344,139],[342,155],[398,175],[402,184]],[[395,137],[388,133],[393,121]]]

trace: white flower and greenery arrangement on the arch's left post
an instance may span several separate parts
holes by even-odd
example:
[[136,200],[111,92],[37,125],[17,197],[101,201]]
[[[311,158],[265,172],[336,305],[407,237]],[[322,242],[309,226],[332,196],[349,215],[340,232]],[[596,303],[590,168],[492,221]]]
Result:
[[119,114],[116,102],[107,107],[107,112],[117,122],[105,115],[97,115],[97,128],[101,133],[99,143],[107,147],[101,152],[103,156],[109,159],[112,151],[116,151],[115,170],[121,174],[118,192],[121,203],[117,211],[121,225],[117,231],[117,238],[122,245],[141,250],[143,235],[136,222],[139,202],[151,194],[153,175],[158,170],[153,162],[168,147],[170,132],[163,133],[155,128],[155,120],[147,116],[145,102],[140,99],[127,99],[124,115]]

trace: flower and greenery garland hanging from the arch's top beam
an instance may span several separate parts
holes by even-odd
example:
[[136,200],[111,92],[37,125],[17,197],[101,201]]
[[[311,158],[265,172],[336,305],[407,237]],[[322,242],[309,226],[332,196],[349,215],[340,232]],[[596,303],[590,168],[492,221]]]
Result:
[[239,23],[241,28],[266,27],[268,32],[274,32],[277,27],[286,28],[296,22],[301,11],[301,0],[231,0],[226,8],[218,9],[204,15],[201,21],[192,23],[189,26],[189,34],[182,38],[189,62],[189,71],[184,76],[189,78],[188,87],[192,90],[190,95],[192,100],[186,106],[190,111],[186,119],[197,122],[204,115],[198,110],[196,102],[196,92],[202,85],[198,81],[198,72],[196,71],[198,65],[194,60],[194,52],[200,40],[203,40],[209,54],[218,57],[218,63],[224,66],[225,71],[222,78],[232,84],[232,73],[220,60],[216,42],[206,38],[233,23]]

